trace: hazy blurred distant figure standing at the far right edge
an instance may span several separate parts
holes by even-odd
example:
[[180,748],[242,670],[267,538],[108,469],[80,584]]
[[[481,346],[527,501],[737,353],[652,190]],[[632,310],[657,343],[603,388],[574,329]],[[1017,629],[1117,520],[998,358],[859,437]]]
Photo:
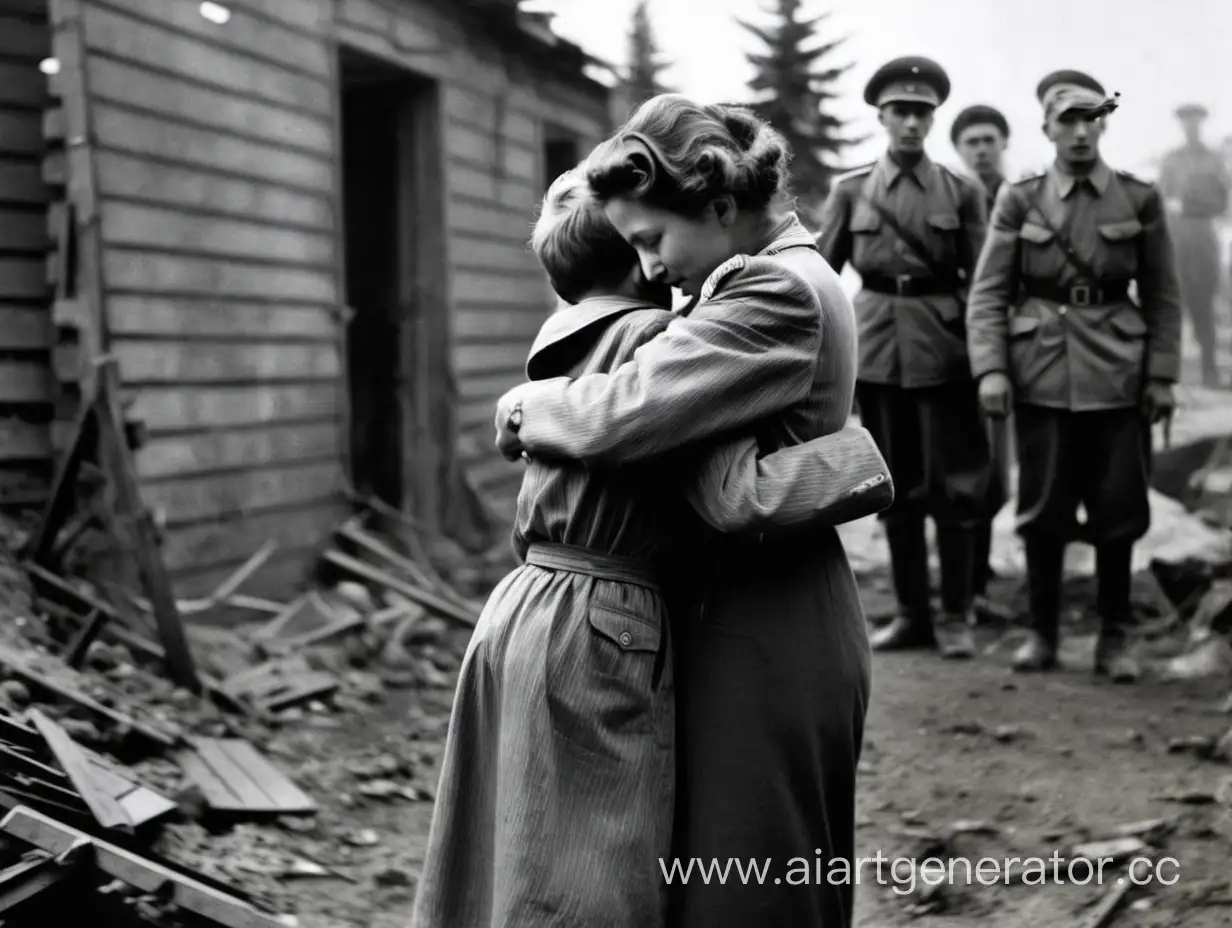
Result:
[[1205,106],[1189,104],[1177,110],[1185,144],[1169,152],[1159,174],[1168,205],[1180,295],[1194,324],[1202,356],[1202,383],[1222,386],[1215,330],[1215,295],[1220,288],[1220,243],[1215,219],[1228,208],[1228,171],[1218,152],[1202,142]]

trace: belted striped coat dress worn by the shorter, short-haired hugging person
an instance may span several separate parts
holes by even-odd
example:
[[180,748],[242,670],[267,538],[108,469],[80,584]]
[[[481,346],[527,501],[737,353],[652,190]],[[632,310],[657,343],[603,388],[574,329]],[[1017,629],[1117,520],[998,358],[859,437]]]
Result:
[[[545,324],[527,373],[609,370],[673,319],[584,301]],[[493,592],[463,661],[413,924],[663,923],[676,732],[650,564],[689,515],[684,498],[711,525],[764,531],[860,518],[891,486],[857,430],[760,458],[753,438],[696,457],[527,467],[513,539],[525,563]]]

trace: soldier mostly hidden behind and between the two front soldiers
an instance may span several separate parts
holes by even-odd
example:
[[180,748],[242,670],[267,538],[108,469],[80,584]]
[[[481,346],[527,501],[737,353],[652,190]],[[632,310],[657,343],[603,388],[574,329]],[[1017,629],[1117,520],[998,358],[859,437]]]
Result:
[[[968,106],[954,118],[950,127],[954,143],[962,164],[971,176],[979,180],[988,193],[986,203],[992,214],[997,192],[1005,180],[1005,149],[1009,147],[1009,121],[1000,110],[984,104]],[[993,467],[988,481],[988,516],[976,531],[975,603],[976,609],[987,608],[988,582],[994,577],[992,567],[993,518],[1005,505],[1010,473],[1010,423],[988,417],[988,446]]]

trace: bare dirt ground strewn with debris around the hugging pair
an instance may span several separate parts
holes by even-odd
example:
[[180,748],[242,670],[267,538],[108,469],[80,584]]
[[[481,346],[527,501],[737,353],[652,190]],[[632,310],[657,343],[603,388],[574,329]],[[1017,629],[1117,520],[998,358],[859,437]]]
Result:
[[[869,613],[882,611],[885,580],[865,587]],[[1169,751],[1174,739],[1217,738],[1232,725],[1221,707],[1227,677],[1147,679],[1137,686],[1098,682],[1088,670],[1090,632],[1071,627],[1067,668],[1045,677],[1011,674],[1009,645],[997,629],[981,630],[986,653],[971,663],[877,656],[861,763],[860,853],[920,861],[940,854],[970,859],[972,866],[981,858],[1047,860],[1055,850],[1064,857],[1076,843],[1116,837],[1120,826],[1165,820],[1141,853],[1174,858],[1177,865],[1162,876],[1179,879],[1135,891],[1116,928],[1230,924],[1232,799],[1221,784],[1232,778],[1232,765]],[[290,727],[267,749],[322,801],[320,815],[281,828],[245,826],[241,838],[216,836],[211,854],[225,857],[225,842],[237,839],[245,853],[264,843],[335,870],[328,877],[281,880],[281,910],[294,912],[303,928],[405,926],[450,695],[447,689],[391,690],[367,712],[320,715]],[[361,795],[360,786],[375,774],[373,759],[391,757],[405,762],[414,789],[389,799]],[[954,836],[956,823],[961,833]],[[936,928],[989,919],[1002,928],[1077,926],[1125,875],[1109,866],[1103,886],[1056,885],[1052,871],[1047,885],[999,881],[938,890],[917,880],[908,893],[894,884],[888,864],[885,885],[869,885],[871,868],[857,890],[862,928],[918,918]],[[965,881],[962,865],[956,873]],[[1064,880],[1063,868],[1061,874]],[[1079,868],[1076,875],[1080,880],[1085,873]]]

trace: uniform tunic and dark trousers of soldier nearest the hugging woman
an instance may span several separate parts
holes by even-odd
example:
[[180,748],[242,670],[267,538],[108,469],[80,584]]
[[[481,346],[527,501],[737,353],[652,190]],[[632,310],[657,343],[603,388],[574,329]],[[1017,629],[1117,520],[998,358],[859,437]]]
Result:
[[[855,298],[857,399],[861,421],[894,474],[894,504],[882,513],[887,520],[928,514],[976,527],[995,502],[962,302],[984,242],[984,196],[973,181],[926,157],[904,169],[886,154],[840,177],[822,213],[822,255],[837,271],[850,261],[865,279]],[[928,248],[928,263],[872,203],[885,206]],[[939,276],[950,279],[933,287],[940,292],[899,296],[870,286],[873,280],[910,286]]]

